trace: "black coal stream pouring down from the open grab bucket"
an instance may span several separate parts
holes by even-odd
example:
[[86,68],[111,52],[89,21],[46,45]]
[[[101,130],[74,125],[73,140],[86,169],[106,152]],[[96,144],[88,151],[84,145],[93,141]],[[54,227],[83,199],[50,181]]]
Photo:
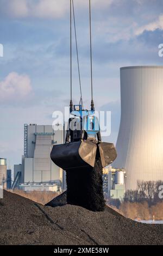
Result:
[[67,203],[91,211],[104,211],[102,163],[96,155],[95,167],[67,170]]

